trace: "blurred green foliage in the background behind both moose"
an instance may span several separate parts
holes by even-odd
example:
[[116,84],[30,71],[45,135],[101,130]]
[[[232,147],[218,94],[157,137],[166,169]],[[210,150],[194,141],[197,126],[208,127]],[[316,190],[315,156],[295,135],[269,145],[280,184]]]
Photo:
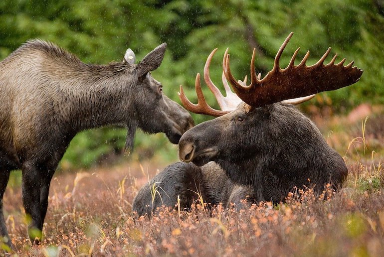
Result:
[[[183,85],[196,101],[194,78],[197,72],[202,73],[212,49],[219,48],[211,64],[211,78],[220,86],[226,47],[230,48],[236,78],[248,74],[254,47],[256,70],[265,75],[281,43],[294,31],[281,66],[288,64],[298,46],[302,48],[298,59],[305,50],[311,51],[308,64],[315,63],[332,46],[332,53],[340,55],[338,60],[347,57],[347,62],[355,60],[365,70],[357,85],[323,93],[332,99],[334,108],[345,110],[361,102],[384,103],[383,27],[384,10],[379,0],[2,0],[0,59],[36,37],[51,40],[84,62],[93,63],[122,60],[128,47],[140,60],[167,42],[163,64],[153,74],[171,99],[178,101],[179,85]],[[209,94],[206,88],[204,92]],[[217,107],[212,97],[207,101]],[[196,124],[209,119],[193,118]],[[122,155],[124,138],[124,129],[82,132],[71,142],[62,167],[89,167],[111,154]],[[176,158],[175,148],[164,136],[136,137],[135,151],[154,154],[157,150]]]

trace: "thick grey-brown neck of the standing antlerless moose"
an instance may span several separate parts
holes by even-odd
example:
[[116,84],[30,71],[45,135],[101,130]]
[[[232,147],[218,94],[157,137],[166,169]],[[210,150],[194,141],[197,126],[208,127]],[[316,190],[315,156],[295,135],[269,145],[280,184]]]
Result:
[[81,76],[59,83],[63,97],[58,99],[57,110],[74,132],[107,125],[131,126],[131,91],[136,81],[131,73],[115,72],[112,68],[89,65],[76,73]]

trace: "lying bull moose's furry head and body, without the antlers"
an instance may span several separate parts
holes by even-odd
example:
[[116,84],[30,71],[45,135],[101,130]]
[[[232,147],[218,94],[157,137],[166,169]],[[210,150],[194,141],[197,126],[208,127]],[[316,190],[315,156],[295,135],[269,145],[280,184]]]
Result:
[[[251,202],[279,203],[294,187],[313,187],[317,195],[327,183],[339,190],[348,174],[343,158],[319,129],[294,106],[280,103],[261,108],[240,104],[227,115],[191,128],[179,142],[179,157],[193,163],[173,164],[151,183],[167,177],[172,184],[182,184],[180,177],[197,172],[196,184],[204,200],[225,207],[231,202],[239,206],[247,195]],[[174,168],[180,165],[183,169]],[[178,188],[171,187],[167,193],[174,190],[172,195],[182,195]],[[145,198],[146,186],[133,204],[140,215]],[[166,206],[176,203],[175,197],[165,199]],[[154,209],[159,206],[156,199]]]

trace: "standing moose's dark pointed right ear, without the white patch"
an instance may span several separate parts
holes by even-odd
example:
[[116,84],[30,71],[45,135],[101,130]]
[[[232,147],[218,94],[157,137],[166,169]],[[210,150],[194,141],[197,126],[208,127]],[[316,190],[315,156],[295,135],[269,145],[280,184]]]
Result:
[[136,66],[139,77],[159,68],[166,52],[167,43],[163,43],[147,54]]

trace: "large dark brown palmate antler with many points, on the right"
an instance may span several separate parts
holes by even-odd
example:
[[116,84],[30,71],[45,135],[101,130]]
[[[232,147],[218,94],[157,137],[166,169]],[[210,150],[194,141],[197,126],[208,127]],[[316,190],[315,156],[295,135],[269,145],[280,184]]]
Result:
[[325,52],[320,60],[312,65],[306,66],[305,62],[309,57],[309,51],[304,56],[299,65],[294,65],[294,61],[300,47],[293,54],[288,67],[281,69],[279,60],[281,54],[291,39],[291,32],[281,45],[276,54],[273,68],[268,74],[260,79],[256,76],[254,69],[255,49],[251,59],[251,83],[246,86],[245,83],[236,81],[232,76],[229,67],[229,54],[226,55],[224,74],[232,85],[236,95],[241,100],[253,107],[265,106],[282,100],[304,97],[323,91],[336,90],[342,87],[352,85],[359,81],[363,70],[352,67],[354,61],[344,66],[345,58],[335,64],[337,54],[331,62],[324,65],[324,60],[331,51],[331,47]]

